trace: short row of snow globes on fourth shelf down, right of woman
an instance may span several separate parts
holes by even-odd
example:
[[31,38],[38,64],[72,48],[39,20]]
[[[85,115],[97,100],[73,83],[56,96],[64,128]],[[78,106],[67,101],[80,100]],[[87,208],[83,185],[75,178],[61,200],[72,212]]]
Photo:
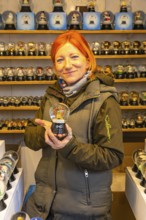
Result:
[[146,91],[137,92],[137,91],[121,91],[119,92],[120,105],[146,105]]

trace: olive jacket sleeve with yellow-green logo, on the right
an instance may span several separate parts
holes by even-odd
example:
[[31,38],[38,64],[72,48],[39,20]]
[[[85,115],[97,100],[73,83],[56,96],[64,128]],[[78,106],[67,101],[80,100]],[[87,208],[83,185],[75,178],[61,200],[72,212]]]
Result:
[[63,157],[90,170],[108,170],[123,160],[121,110],[113,97],[102,105],[93,125],[93,144],[79,143],[75,137],[59,152]]

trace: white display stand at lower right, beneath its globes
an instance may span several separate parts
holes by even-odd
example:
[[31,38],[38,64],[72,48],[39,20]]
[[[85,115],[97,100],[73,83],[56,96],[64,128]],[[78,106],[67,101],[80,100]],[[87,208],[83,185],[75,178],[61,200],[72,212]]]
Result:
[[136,220],[146,220],[146,194],[132,168],[126,168],[125,193]]

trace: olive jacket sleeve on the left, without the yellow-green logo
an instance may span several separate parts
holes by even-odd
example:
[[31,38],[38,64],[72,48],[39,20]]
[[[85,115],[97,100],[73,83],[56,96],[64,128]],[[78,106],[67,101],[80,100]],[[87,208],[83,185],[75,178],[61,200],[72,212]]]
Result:
[[[43,118],[43,109],[45,104],[45,97],[41,102],[40,109],[36,112],[35,118]],[[35,123],[35,118],[29,119],[28,125],[24,133],[24,142],[26,146],[34,151],[43,147],[47,147],[44,140],[45,129]]]

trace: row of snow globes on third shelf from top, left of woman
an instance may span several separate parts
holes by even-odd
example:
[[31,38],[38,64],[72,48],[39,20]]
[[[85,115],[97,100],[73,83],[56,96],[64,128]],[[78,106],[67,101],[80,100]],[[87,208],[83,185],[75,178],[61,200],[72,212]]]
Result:
[[0,67],[0,81],[54,80],[51,66],[46,67]]

